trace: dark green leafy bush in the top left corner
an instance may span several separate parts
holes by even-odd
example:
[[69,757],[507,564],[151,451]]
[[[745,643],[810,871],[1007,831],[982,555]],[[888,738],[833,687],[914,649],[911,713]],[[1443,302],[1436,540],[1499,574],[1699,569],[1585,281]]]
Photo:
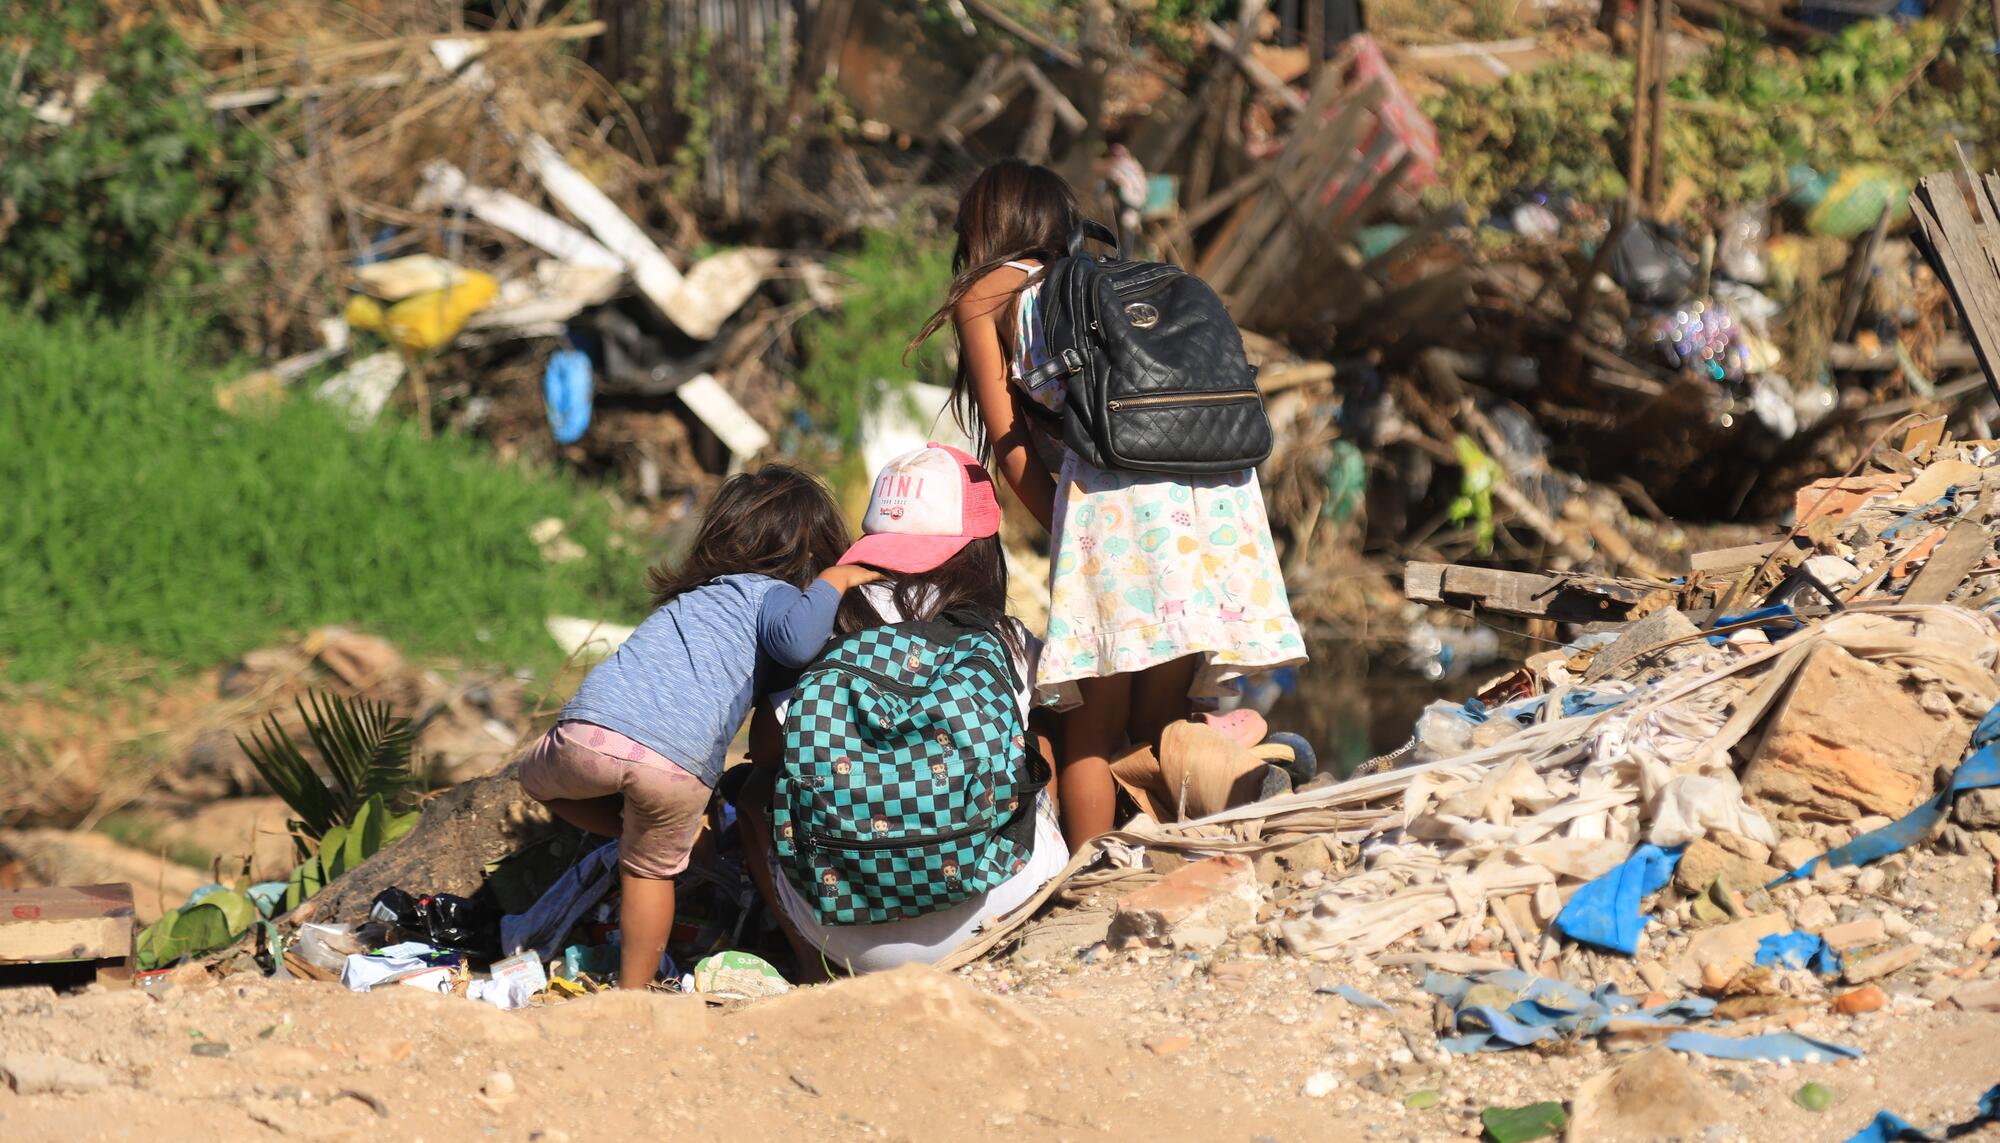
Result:
[[0,302],[122,310],[248,254],[258,142],[218,126],[156,12],[0,4],[0,80],[20,92],[0,98]]

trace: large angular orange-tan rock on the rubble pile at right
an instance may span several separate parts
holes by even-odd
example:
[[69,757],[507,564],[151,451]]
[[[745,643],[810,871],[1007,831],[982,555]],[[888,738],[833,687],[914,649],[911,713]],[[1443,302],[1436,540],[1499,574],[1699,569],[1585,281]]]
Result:
[[1742,787],[1778,819],[1902,817],[1970,739],[1968,719],[1926,713],[1900,671],[1822,645],[1800,665]]

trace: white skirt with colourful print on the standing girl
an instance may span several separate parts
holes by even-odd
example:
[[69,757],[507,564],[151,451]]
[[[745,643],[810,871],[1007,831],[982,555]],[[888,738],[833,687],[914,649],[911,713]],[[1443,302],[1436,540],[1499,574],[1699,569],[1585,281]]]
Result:
[[1036,665],[1044,701],[1074,705],[1064,683],[1196,653],[1194,697],[1306,661],[1254,472],[1154,478],[1064,452]]

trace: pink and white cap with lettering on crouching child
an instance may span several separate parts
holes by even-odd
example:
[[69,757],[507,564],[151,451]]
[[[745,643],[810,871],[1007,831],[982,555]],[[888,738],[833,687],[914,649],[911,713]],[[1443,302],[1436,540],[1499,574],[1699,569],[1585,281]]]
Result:
[[994,478],[980,462],[942,444],[906,452],[876,474],[862,538],[840,558],[882,572],[930,572],[1000,532]]

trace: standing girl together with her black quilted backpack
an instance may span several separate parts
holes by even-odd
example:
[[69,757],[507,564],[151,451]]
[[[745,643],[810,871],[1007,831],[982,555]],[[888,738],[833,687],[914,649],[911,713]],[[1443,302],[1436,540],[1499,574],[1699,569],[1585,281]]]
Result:
[[1158,749],[1232,679],[1306,659],[1240,334],[1178,268],[1082,258],[1086,226],[1052,170],[986,168],[958,204],[944,306],[910,344],[952,324],[960,426],[1050,532],[1036,679],[1082,699],[1058,759],[1072,849],[1114,825],[1112,757]]

